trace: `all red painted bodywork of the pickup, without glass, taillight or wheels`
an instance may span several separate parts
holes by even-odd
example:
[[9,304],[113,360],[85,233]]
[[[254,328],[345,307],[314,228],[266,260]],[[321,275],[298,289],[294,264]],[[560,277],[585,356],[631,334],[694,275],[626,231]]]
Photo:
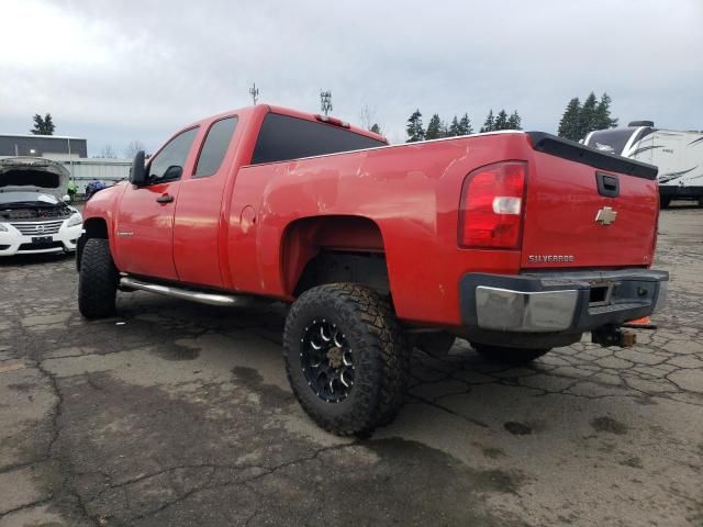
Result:
[[[121,271],[293,300],[298,278],[320,247],[382,250],[400,318],[459,326],[458,285],[467,272],[516,274],[531,267],[527,254],[566,250],[577,255],[578,267],[647,267],[651,261],[654,182],[618,176],[623,199],[615,203],[623,222],[602,227],[593,216],[611,199],[594,190],[594,169],[535,153],[523,133],[250,166],[270,111],[315,120],[265,105],[204,120],[181,180],[168,183],[172,189],[126,184],[123,193],[103,191],[88,203],[86,218],[103,217],[111,226]],[[207,130],[227,115],[237,115],[238,124],[220,171],[193,179]],[[527,161],[523,250],[462,249],[457,242],[462,182],[476,168],[503,160]],[[176,201],[159,209],[155,199],[165,191]],[[116,236],[126,228],[140,235]]]

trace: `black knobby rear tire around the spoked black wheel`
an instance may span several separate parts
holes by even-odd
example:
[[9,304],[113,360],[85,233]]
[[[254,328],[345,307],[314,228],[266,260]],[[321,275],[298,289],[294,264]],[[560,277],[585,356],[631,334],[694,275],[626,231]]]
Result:
[[[344,416],[332,417],[311,405],[292,379],[292,368],[300,368],[300,336],[292,334],[293,325],[300,316],[305,316],[308,306],[321,303],[328,307],[331,315],[336,313],[353,321],[354,328],[347,332],[347,338],[355,343],[355,357],[362,349],[367,351],[366,358],[373,362],[370,367],[377,374],[376,382],[355,382],[354,390],[360,391],[357,395],[361,403]],[[339,436],[368,436],[395,417],[408,392],[410,355],[405,335],[388,300],[356,283],[328,283],[308,290],[293,303],[286,319],[283,356],[293,393],[313,421]]]

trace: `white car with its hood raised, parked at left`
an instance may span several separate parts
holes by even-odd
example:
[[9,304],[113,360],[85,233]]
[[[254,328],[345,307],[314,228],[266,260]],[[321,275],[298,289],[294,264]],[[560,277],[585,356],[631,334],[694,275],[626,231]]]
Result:
[[49,159],[0,159],[0,256],[76,250],[83,218],[66,203],[68,176]]

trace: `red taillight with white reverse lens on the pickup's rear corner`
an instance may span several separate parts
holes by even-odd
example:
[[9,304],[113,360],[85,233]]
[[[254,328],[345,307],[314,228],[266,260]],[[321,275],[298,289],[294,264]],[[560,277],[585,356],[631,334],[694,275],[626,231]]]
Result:
[[503,161],[466,177],[459,205],[461,247],[520,248],[526,167],[524,161]]

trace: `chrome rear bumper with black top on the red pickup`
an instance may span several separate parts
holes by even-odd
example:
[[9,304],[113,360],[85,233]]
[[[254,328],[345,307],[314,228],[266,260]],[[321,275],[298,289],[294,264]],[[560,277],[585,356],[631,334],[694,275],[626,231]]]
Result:
[[461,318],[480,332],[577,335],[659,311],[669,273],[654,270],[468,273]]

